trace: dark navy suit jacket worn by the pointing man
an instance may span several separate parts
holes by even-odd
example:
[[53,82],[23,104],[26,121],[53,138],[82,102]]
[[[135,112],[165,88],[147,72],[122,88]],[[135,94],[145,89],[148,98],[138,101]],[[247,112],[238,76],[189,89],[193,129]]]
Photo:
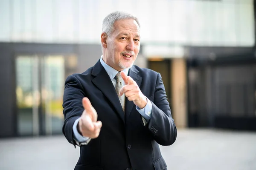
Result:
[[73,124],[89,98],[102,121],[99,137],[80,147],[75,170],[164,170],[166,163],[158,144],[171,145],[177,130],[159,73],[132,66],[128,73],[152,103],[151,119],[144,126],[133,101],[126,99],[125,114],[108,73],[98,61],[82,74],[70,75],[64,90],[63,133],[71,144]]

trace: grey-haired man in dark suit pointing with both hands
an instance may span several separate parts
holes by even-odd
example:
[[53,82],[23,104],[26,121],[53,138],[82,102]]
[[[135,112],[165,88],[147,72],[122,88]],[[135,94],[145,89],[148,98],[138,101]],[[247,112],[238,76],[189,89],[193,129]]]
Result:
[[65,82],[63,133],[80,146],[75,170],[166,170],[158,144],[173,144],[177,130],[160,74],[133,65],[137,18],[109,14],[101,43],[100,60]]

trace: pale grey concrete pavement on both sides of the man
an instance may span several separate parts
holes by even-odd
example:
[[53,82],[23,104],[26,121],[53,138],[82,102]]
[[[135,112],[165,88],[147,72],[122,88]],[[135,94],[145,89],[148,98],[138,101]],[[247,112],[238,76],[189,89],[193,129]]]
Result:
[[[256,170],[255,132],[179,129],[160,149],[168,170]],[[0,170],[73,170],[78,158],[62,135],[0,139]]]

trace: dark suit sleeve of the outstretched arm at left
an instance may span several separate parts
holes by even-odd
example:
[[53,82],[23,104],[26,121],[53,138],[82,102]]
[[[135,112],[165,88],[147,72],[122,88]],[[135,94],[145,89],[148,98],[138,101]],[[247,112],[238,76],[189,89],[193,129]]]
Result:
[[73,124],[76,119],[80,118],[84,111],[82,105],[82,98],[84,96],[84,90],[80,81],[73,75],[67,77],[63,95],[64,125],[62,127],[62,132],[67,140],[73,145],[76,145]]

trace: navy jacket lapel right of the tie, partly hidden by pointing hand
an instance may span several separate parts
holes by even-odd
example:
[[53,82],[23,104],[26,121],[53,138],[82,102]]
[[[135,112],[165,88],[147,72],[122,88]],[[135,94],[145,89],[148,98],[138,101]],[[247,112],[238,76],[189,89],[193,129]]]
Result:
[[[129,76],[134,79],[134,81],[136,81],[137,85],[140,87],[141,81],[142,81],[142,77],[140,77],[138,75],[138,70],[132,66],[131,69],[129,69]],[[135,104],[133,101],[129,101],[126,98],[126,102],[125,102],[125,119],[127,120],[129,115],[131,114],[131,110],[132,108],[135,107]]]

